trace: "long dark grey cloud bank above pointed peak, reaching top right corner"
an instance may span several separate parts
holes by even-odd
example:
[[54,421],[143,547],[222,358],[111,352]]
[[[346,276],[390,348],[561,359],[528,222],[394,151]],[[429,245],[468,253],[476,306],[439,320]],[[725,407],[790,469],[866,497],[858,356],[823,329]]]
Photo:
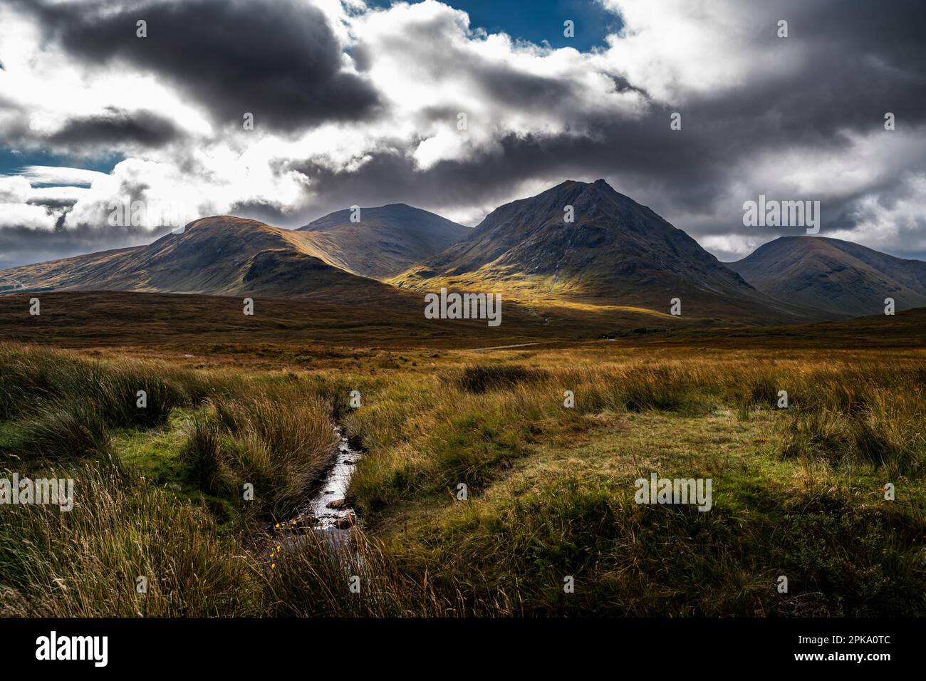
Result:
[[[696,236],[748,233],[772,238],[803,233],[803,228],[744,228],[743,202],[776,187],[746,186],[740,190],[743,195],[731,195],[730,188],[744,179],[743,170],[757,169],[762,158],[775,158],[779,151],[800,149],[800,162],[813,168],[820,159],[849,147],[853,134],[891,134],[883,130],[887,111],[895,113],[898,126],[926,125],[926,13],[919,2],[785,2],[757,5],[756,11],[755,48],[771,51],[780,46],[776,41],[786,40],[787,48],[800,55],[796,73],[747,78],[736,88],[689,96],[683,106],[651,102],[639,120],[619,114],[575,119],[594,133],[593,138],[508,135],[501,141],[503,153],[444,161],[426,172],[416,171],[407,156],[392,153],[375,156],[354,172],[297,164],[319,193],[307,217],[351,204],[399,200],[433,208],[491,205],[525,180],[557,183],[568,177],[603,176],[618,191],[648,203]],[[787,39],[774,31],[782,18],[790,25]],[[418,32],[428,30],[422,27]],[[395,47],[415,49],[416,35],[410,32],[408,44]],[[427,65],[437,74],[461,58],[453,51],[443,50],[441,55]],[[482,94],[507,106],[559,110],[574,101],[573,83],[489,63],[468,66]],[[628,87],[638,89],[638,83],[615,83],[618,90]],[[452,110],[434,109],[433,117]],[[676,110],[682,113],[682,130],[670,131],[669,115]],[[470,120],[474,122],[478,123]],[[921,171],[926,158],[920,161]],[[856,208],[859,199],[875,193],[889,205],[893,195],[907,191],[904,179],[898,174],[859,191],[807,198],[821,199],[824,232],[852,229],[867,217]],[[713,219],[715,215],[720,221]]]

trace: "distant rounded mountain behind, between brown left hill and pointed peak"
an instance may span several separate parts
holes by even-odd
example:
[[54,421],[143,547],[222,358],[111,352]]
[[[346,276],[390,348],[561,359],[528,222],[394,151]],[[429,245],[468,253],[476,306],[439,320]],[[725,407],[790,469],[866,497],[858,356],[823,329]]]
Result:
[[343,270],[384,279],[440,253],[472,229],[405,204],[361,208],[359,221],[344,209],[300,227],[330,262]]

